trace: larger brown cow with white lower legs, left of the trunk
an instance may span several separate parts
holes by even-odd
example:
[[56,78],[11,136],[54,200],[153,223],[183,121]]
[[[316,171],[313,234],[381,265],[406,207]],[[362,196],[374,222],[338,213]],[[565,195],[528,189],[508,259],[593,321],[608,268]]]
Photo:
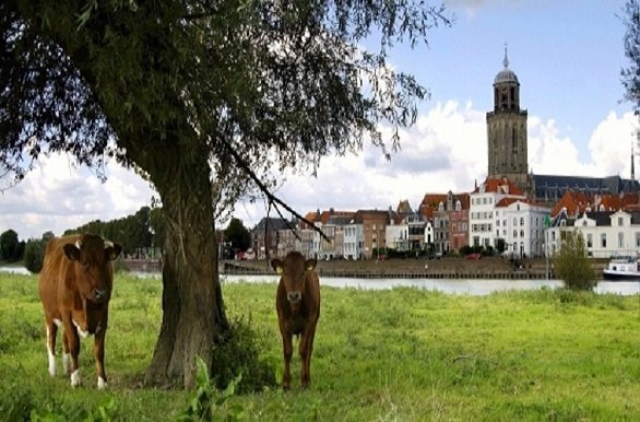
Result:
[[[45,249],[39,292],[45,308],[49,374],[56,375],[56,333],[63,326],[62,364],[71,386],[81,384],[78,368],[80,338],[94,335],[98,388],[105,388],[105,333],[114,284],[111,261],[122,247],[95,235],[52,238]],[[69,357],[71,356],[71,362]],[[69,365],[71,363],[71,366]]]

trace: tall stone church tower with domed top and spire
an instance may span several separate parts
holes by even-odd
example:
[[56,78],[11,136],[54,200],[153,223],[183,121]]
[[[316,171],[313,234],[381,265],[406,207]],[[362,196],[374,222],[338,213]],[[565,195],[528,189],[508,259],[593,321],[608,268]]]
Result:
[[505,47],[505,69],[494,80],[494,110],[487,113],[488,176],[506,177],[529,191],[526,110],[520,109],[520,82],[509,69]]

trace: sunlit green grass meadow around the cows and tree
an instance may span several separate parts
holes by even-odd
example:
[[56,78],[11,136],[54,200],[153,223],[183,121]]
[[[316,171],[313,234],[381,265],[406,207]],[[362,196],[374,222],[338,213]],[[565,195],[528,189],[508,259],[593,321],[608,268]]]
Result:
[[[0,273],[0,420],[165,421],[187,409],[192,391],[140,384],[161,321],[159,280],[116,279],[107,391],[95,388],[86,340],[83,387],[47,374],[36,280]],[[224,284],[223,292],[229,318],[250,321],[280,379],[275,284]],[[298,374],[296,354],[292,391],[232,396],[220,411],[257,421],[637,421],[640,301],[550,290],[466,296],[322,288],[309,390]]]

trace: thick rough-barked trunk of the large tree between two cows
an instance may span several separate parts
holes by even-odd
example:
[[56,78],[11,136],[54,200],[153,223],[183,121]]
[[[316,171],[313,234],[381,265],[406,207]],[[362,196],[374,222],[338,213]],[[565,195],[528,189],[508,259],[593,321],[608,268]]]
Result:
[[208,154],[180,148],[177,141],[169,144],[165,160],[154,160],[163,165],[146,168],[161,195],[167,233],[163,321],[145,382],[191,388],[197,356],[215,372],[212,350],[228,323],[217,272]]

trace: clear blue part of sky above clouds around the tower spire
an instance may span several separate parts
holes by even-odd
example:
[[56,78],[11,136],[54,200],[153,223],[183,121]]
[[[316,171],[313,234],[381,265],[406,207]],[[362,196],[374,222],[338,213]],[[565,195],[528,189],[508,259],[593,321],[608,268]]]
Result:
[[[470,101],[491,107],[493,77],[501,69],[503,45],[521,83],[521,107],[555,119],[588,160],[589,138],[609,112],[624,113],[620,69],[627,66],[614,0],[452,0],[451,28],[435,31],[417,55],[399,54],[402,69],[419,74],[431,101]],[[400,51],[399,51],[400,52]],[[419,57],[422,60],[415,60]],[[488,83],[489,82],[489,83]]]

